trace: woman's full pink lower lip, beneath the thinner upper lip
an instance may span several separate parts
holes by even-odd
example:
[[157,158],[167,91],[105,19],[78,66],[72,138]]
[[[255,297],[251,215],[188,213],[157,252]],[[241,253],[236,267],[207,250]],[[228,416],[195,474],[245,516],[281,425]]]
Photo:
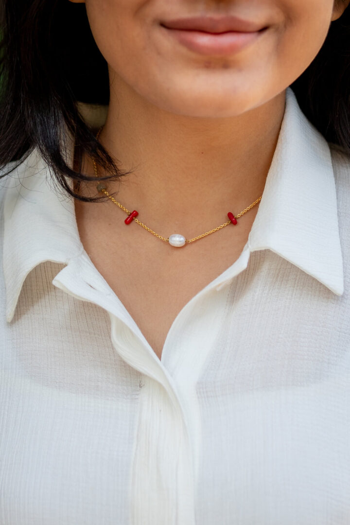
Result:
[[165,29],[190,51],[200,55],[218,56],[228,56],[237,53],[251,44],[262,33],[262,31],[253,31],[251,33],[240,33],[238,31],[204,33],[203,31]]

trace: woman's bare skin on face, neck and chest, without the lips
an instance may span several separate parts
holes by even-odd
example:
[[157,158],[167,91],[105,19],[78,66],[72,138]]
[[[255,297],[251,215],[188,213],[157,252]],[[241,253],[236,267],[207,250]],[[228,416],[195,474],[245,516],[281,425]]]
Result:
[[[122,170],[110,193],[164,237],[187,239],[226,222],[262,192],[285,89],[319,52],[347,7],[333,0],[85,1],[108,62],[110,105],[100,135]],[[257,38],[232,54],[184,47],[175,18],[238,17]],[[132,38],[130,38],[132,35]],[[93,174],[89,159],[84,172]],[[96,185],[81,187],[95,195]],[[257,213],[183,248],[124,224],[111,202],[76,202],[82,244],[161,358],[172,322],[239,257]]]

